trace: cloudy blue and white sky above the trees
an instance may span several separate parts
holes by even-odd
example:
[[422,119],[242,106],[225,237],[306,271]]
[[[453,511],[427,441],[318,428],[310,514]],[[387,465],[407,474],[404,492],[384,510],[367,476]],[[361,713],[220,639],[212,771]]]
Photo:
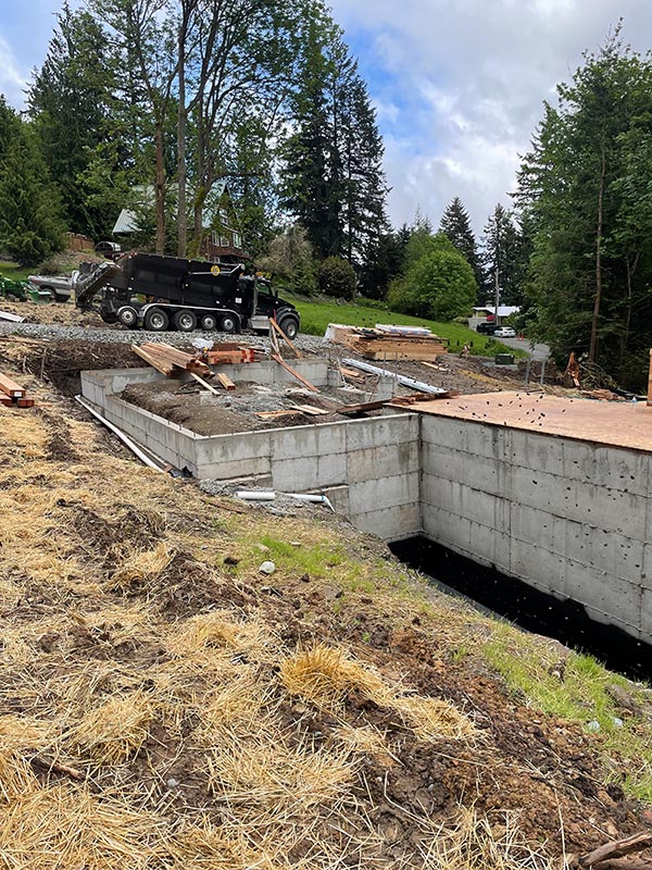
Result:
[[[0,0],[0,92],[16,108],[46,55],[59,0]],[[510,208],[543,100],[610,28],[652,48],[652,0],[330,0],[385,140],[394,226],[437,226],[457,196],[476,233]]]

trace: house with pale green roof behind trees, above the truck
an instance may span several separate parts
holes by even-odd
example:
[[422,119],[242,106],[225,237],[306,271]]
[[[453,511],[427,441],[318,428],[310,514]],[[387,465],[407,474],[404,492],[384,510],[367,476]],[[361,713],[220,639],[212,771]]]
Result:
[[[138,187],[134,198],[142,201],[143,209],[153,209],[154,188]],[[234,206],[228,185],[220,181],[211,191],[211,206],[203,211],[203,238],[199,257],[222,262],[241,262],[250,257],[243,248],[242,231],[238,212]],[[189,227],[191,217],[189,217]],[[128,238],[139,228],[136,211],[123,209],[113,227],[113,236],[123,243],[123,250],[129,247]]]

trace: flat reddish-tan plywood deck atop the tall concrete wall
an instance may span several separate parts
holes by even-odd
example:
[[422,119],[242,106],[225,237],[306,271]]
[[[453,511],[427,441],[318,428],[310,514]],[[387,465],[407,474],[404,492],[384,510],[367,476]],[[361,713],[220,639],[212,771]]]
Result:
[[644,402],[505,391],[419,401],[410,410],[652,452],[652,407]]

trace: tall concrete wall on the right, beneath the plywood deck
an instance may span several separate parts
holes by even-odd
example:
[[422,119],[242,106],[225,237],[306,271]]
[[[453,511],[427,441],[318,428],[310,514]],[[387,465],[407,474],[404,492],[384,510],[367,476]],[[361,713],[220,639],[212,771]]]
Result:
[[422,418],[424,534],[652,643],[651,457]]

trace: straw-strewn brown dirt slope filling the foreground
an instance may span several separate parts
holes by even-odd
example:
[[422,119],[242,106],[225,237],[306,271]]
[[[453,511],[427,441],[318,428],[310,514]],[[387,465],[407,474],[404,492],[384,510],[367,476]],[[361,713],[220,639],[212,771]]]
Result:
[[513,698],[455,652],[488,620],[343,524],[112,456],[64,402],[0,408],[0,630],[2,868],[548,868],[560,812],[587,846],[615,812],[541,783],[581,733],[531,761],[526,714],[494,730]]

